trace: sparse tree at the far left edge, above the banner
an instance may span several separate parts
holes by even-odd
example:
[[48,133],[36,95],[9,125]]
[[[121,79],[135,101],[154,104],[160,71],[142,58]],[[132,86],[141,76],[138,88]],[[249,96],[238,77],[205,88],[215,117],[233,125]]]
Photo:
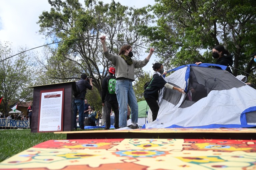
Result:
[[[21,51],[26,49],[20,48]],[[11,43],[0,42],[0,96],[4,97],[0,109],[8,114],[9,106],[20,101],[31,101],[33,89],[28,86],[34,82],[33,62],[30,53],[21,53],[15,58],[6,59],[13,55]]]

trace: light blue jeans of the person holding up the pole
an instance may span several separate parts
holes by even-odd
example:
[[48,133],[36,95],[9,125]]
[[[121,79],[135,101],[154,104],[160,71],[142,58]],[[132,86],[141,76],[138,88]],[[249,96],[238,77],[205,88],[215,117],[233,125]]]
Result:
[[129,79],[119,79],[116,81],[116,97],[119,105],[119,127],[127,126],[127,104],[131,108],[132,123],[138,122],[138,103]]

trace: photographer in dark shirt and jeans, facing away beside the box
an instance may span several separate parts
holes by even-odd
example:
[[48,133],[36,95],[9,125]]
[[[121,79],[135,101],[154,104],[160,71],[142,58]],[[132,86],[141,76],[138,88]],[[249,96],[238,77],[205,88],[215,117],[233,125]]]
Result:
[[84,129],[84,98],[86,94],[86,89],[92,90],[92,78],[88,80],[88,77],[86,74],[81,75],[81,79],[76,82],[76,88],[77,92],[75,93],[74,97],[74,129],[77,129],[76,126],[76,114],[78,111],[78,122],[79,122],[79,128]]

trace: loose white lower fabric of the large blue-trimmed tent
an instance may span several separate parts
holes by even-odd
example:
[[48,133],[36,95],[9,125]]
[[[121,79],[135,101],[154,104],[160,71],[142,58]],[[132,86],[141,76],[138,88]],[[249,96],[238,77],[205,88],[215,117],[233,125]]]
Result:
[[255,106],[256,103],[255,98],[251,99],[251,94],[244,93],[251,87],[243,86],[240,88],[239,90],[236,88],[224,90],[221,93],[213,90],[207,97],[187,108],[175,108],[169,102],[163,100],[157,120],[147,124],[146,128],[166,128],[171,125],[181,127],[211,124],[240,125],[241,113],[245,109]]

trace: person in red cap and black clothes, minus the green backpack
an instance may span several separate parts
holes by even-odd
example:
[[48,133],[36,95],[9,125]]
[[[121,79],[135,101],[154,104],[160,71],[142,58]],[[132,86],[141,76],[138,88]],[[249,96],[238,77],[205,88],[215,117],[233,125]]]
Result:
[[101,89],[102,89],[102,106],[105,109],[105,121],[106,121],[106,127],[105,129],[109,129],[110,128],[110,113],[111,113],[111,108],[113,109],[114,113],[115,113],[115,124],[114,127],[117,129],[119,128],[119,109],[118,109],[118,102],[117,102],[117,98],[116,98],[116,94],[110,94],[108,91],[108,86],[109,86],[109,79],[110,78],[116,78],[113,74],[115,74],[115,68],[114,67],[110,67],[108,69],[108,76],[105,77],[102,80],[102,85],[101,85]]

